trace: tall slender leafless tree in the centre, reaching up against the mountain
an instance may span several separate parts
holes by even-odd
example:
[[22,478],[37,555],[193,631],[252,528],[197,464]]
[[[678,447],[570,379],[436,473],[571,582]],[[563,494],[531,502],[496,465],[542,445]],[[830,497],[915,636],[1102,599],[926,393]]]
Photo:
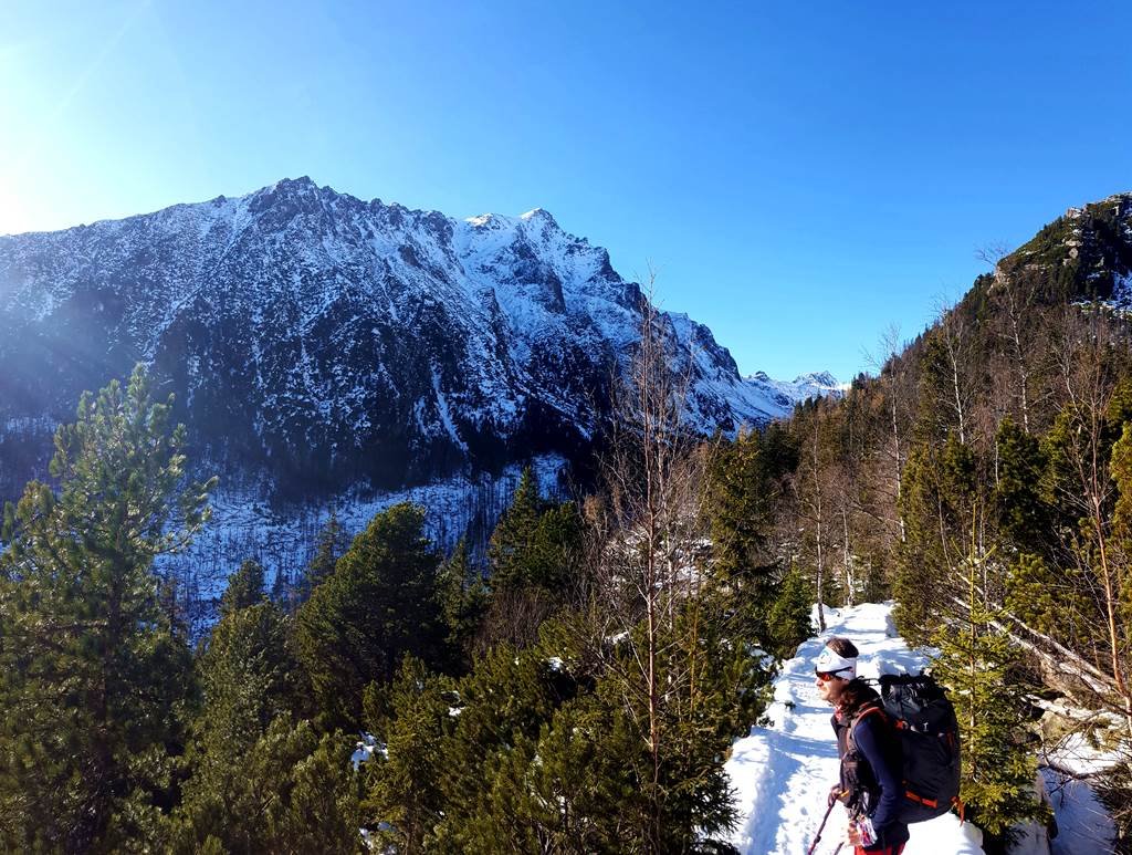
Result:
[[[710,447],[685,424],[694,360],[676,368],[675,333],[642,301],[641,343],[624,382],[615,383],[611,442],[601,464],[604,502],[586,516],[595,542],[590,554],[595,647],[618,679],[625,708],[648,744],[649,846],[662,848],[661,766],[672,747],[666,723],[694,703],[702,664],[695,639],[705,550],[703,481]],[[677,619],[680,609],[687,618]],[[609,641],[616,640],[617,655]]]

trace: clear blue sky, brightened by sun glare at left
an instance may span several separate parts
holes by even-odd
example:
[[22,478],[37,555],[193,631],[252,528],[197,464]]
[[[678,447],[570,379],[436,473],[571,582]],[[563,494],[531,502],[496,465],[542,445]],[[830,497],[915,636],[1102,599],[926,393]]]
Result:
[[301,174],[542,206],[744,373],[847,379],[978,247],[1132,189],[1130,8],[7,0],[0,233]]

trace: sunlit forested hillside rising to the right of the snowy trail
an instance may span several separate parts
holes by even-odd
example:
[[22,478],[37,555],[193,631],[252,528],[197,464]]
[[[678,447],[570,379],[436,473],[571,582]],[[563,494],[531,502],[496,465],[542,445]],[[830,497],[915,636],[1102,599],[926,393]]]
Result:
[[[820,601],[891,593],[902,634],[941,649],[962,796],[993,833],[1040,814],[1037,764],[1067,730],[1132,759],[1130,208],[1071,210],[990,254],[915,341],[882,342],[877,376],[782,428],[798,456],[772,554]],[[1096,712],[1044,715],[1057,700]],[[1130,769],[1094,781],[1121,847]]]

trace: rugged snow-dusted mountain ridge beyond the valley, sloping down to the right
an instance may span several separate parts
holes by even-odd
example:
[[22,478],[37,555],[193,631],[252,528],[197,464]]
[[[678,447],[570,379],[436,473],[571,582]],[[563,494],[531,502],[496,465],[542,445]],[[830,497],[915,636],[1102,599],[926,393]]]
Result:
[[[211,462],[328,488],[585,451],[644,297],[542,210],[454,220],[283,180],[60,232],[0,237],[0,460],[84,388],[151,362]],[[661,314],[706,431],[764,424],[829,376],[739,376]],[[24,441],[27,441],[26,443]]]

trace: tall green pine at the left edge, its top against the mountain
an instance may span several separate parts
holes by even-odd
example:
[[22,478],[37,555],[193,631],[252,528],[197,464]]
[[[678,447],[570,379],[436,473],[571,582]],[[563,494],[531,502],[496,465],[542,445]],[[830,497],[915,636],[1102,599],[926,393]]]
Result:
[[135,369],[55,434],[58,497],[29,484],[0,557],[0,822],[10,849],[87,850],[156,833],[190,657],[154,561],[207,520],[185,429]]

